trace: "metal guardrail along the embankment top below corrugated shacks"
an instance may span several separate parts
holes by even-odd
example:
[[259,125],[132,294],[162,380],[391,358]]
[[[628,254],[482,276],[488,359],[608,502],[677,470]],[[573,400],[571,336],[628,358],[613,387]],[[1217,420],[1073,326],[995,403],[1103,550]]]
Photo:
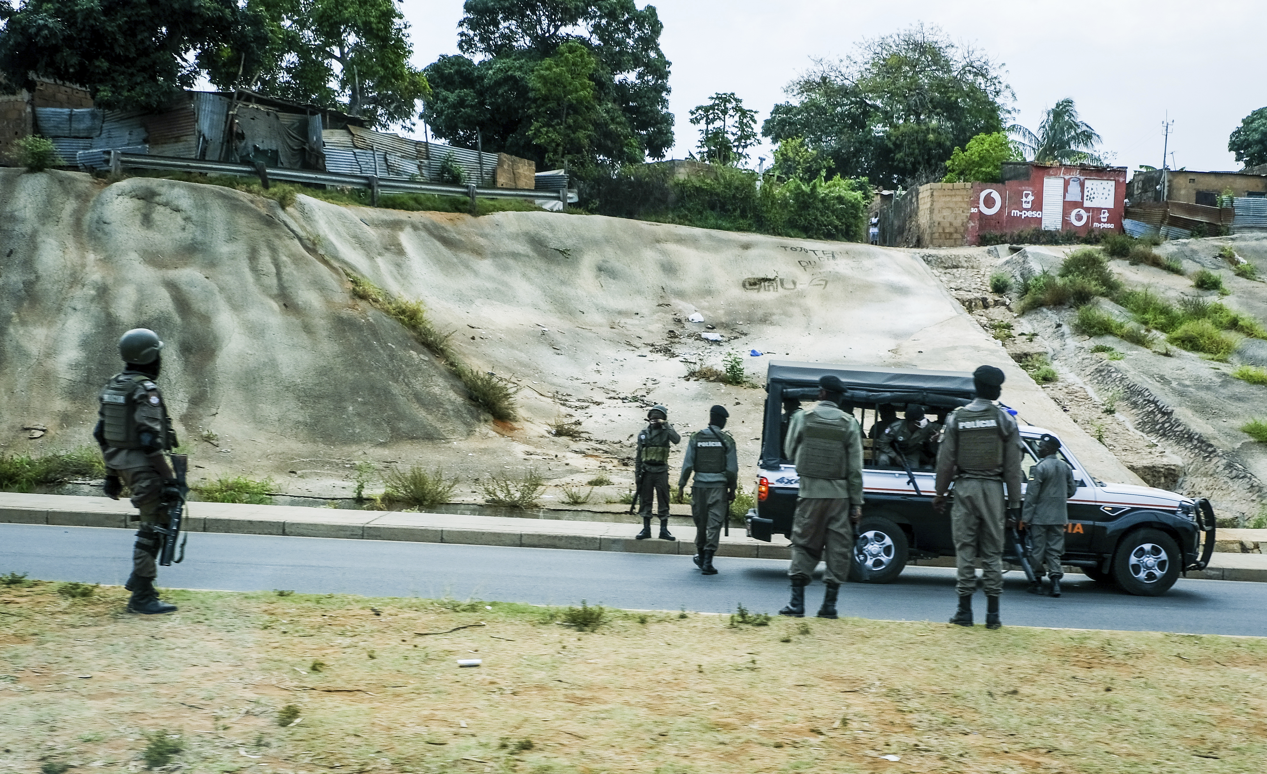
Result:
[[416,182],[400,177],[378,177],[375,175],[343,175],[340,172],[318,172],[315,170],[291,170],[286,167],[266,167],[264,165],[231,163],[227,161],[204,161],[200,158],[177,158],[171,156],[150,156],[146,153],[124,153],[106,151],[111,172],[124,168],[169,170],[172,172],[196,172],[203,175],[236,175],[239,177],[258,177],[264,187],[274,180],[284,182],[307,182],[309,185],[337,185],[345,187],[369,189],[370,201],[379,203],[379,194],[436,194],[440,196],[466,196],[475,212],[476,199],[557,199],[568,208],[568,191],[536,191],[525,189],[489,189],[468,185],[440,185]]

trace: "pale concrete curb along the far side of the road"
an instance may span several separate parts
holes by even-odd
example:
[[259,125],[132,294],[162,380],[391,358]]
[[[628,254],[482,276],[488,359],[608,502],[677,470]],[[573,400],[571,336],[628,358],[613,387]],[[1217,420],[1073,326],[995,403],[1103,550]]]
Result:
[[[0,493],[0,523],[51,524],[58,527],[133,528],[128,517],[136,509],[127,500],[96,497]],[[296,505],[237,505],[231,503],[190,503],[185,528],[189,532],[234,535],[277,535],[291,537],[338,537],[388,540],[466,546],[509,546],[522,549],[568,549],[574,551],[622,551],[626,554],[694,554],[696,530],[674,526],[677,541],[634,540],[636,523],[576,522],[563,519],[462,516],[450,513],[403,513],[398,511],[333,511]],[[1220,531],[1220,537],[1223,531]],[[1229,532],[1229,541],[1257,547],[1258,530]],[[1230,535],[1237,532],[1237,535]],[[1240,533],[1244,535],[1240,535]],[[731,530],[722,537],[717,555],[740,559],[791,559],[786,540],[764,542]],[[1220,541],[1220,543],[1224,541]],[[1267,542],[1267,541],[1264,541]],[[1230,543],[1229,543],[1230,545]],[[1221,547],[1221,546],[1220,546]],[[953,568],[954,559],[911,560],[910,566]],[[1079,573],[1066,568],[1067,573]],[[1210,566],[1188,573],[1205,580],[1243,580],[1267,583],[1267,554],[1215,552]]]

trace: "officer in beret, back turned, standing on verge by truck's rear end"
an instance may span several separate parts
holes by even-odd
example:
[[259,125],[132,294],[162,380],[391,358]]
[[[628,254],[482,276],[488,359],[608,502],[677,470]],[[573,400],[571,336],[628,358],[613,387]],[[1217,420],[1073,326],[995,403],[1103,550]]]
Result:
[[792,600],[780,616],[805,616],[805,587],[818,561],[826,564],[820,618],[836,618],[840,584],[849,578],[854,524],[863,517],[863,433],[840,410],[845,385],[832,375],[818,380],[818,403],[788,424],[783,456],[796,462],[801,488],[792,517]]

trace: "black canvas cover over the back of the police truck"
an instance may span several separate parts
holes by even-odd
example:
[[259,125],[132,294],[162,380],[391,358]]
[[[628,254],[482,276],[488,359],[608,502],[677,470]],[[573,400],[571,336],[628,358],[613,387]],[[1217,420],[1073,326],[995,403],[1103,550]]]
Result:
[[783,450],[779,448],[783,400],[813,400],[818,394],[818,379],[829,374],[845,385],[845,403],[859,408],[874,408],[886,403],[957,408],[971,403],[977,394],[972,374],[962,371],[850,367],[772,360],[765,372],[765,422],[761,459],[758,462],[760,467],[778,467],[780,462],[791,462],[783,460]]

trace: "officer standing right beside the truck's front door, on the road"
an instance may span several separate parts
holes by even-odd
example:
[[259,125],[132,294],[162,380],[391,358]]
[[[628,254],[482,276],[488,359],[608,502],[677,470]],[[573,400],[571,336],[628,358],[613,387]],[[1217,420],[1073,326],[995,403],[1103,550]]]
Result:
[[1025,507],[1021,511],[1021,523],[1030,533],[1034,557],[1034,583],[1026,592],[1043,593],[1043,565],[1052,579],[1052,595],[1060,595],[1060,579],[1064,569],[1060,556],[1064,555],[1064,530],[1069,523],[1069,498],[1078,490],[1073,483],[1073,469],[1057,456],[1060,441],[1049,433],[1043,433],[1038,442],[1038,465],[1030,471],[1030,481],[1025,486]]

